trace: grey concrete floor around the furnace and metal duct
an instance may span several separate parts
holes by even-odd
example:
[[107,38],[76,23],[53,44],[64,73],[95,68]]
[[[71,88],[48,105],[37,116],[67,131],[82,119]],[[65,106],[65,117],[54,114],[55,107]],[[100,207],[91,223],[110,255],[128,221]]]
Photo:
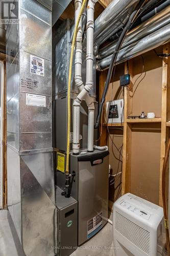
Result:
[[[0,210],[0,255],[26,256],[8,210]],[[71,256],[80,255],[114,256],[112,225],[108,223],[95,237],[71,254]]]

